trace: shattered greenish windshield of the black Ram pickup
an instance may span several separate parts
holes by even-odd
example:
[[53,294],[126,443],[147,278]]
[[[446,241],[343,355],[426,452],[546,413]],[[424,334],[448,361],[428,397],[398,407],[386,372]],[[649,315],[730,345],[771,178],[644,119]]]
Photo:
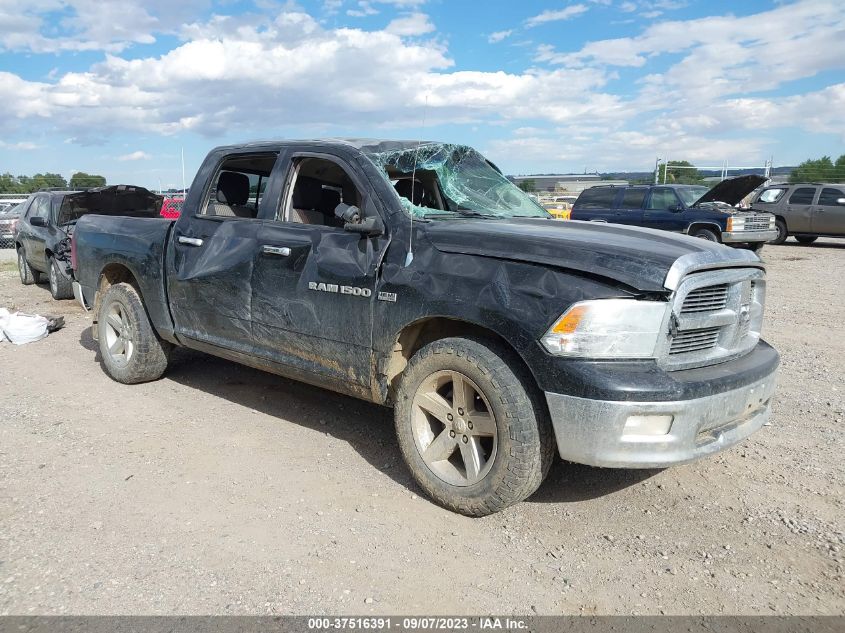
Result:
[[471,147],[424,143],[367,156],[416,217],[550,217]]

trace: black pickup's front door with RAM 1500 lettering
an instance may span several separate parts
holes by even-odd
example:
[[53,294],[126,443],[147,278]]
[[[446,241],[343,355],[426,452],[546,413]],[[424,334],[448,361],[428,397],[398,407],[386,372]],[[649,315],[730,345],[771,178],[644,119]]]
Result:
[[282,204],[260,229],[252,277],[256,350],[357,392],[370,389],[373,302],[388,238],[346,231],[334,211],[342,202],[362,217],[381,215],[367,182],[332,148],[294,148]]

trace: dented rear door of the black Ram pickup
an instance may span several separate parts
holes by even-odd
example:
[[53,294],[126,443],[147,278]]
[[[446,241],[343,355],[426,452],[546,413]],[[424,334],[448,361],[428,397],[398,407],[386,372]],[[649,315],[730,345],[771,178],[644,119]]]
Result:
[[[258,210],[278,152],[221,155],[205,190],[191,191],[168,245],[167,290],[175,332],[248,353]],[[188,343],[189,344],[189,343]]]

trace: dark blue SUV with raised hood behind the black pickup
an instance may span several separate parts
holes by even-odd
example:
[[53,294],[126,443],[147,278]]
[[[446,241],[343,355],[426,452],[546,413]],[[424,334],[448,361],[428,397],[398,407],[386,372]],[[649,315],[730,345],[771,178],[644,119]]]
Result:
[[775,218],[734,205],[764,182],[762,176],[740,176],[723,180],[711,189],[697,185],[600,185],[581,192],[571,219],[686,233],[757,251],[777,236]]

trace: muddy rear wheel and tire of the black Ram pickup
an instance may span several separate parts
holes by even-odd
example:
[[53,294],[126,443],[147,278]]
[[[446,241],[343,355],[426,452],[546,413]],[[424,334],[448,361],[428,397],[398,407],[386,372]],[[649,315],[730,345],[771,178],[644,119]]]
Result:
[[100,302],[97,339],[106,373],[127,385],[161,378],[171,345],[153,330],[138,291],[110,286]]

